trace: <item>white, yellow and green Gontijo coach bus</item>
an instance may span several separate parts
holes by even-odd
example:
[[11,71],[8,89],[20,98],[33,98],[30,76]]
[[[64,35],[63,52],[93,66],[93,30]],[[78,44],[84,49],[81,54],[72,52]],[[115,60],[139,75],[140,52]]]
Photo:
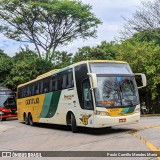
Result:
[[[143,86],[146,78],[142,77]],[[138,87],[122,61],[91,60],[53,70],[18,86],[18,119],[102,128],[140,120]]]

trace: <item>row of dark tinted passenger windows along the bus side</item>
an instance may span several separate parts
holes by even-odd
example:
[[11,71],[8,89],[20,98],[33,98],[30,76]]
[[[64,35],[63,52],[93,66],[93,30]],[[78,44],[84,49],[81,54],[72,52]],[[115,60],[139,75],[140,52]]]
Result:
[[74,86],[72,69],[44,78],[18,89],[18,98],[63,90]]

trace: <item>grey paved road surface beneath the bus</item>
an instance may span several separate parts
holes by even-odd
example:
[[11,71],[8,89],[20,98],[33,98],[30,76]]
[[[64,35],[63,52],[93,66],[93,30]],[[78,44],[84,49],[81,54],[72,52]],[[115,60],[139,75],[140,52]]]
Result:
[[[108,151],[118,151],[116,153],[119,151],[160,152],[160,117],[142,117],[138,124],[109,129],[80,128],[78,133],[72,133],[65,126],[51,124],[28,126],[18,122],[17,119],[8,119],[0,123],[0,151],[104,151],[106,154]],[[85,153],[81,152],[73,153],[82,157],[72,157],[72,152],[67,152],[68,157],[54,157],[54,159],[160,160],[157,157],[104,156],[97,158],[85,157]],[[41,159],[53,159],[53,157]]]

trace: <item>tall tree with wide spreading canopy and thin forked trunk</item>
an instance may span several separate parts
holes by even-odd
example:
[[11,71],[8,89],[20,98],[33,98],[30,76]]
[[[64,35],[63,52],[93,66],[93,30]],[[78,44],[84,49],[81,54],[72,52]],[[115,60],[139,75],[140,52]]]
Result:
[[10,39],[33,43],[52,61],[56,48],[77,38],[96,37],[101,21],[92,7],[76,0],[0,0],[0,31]]

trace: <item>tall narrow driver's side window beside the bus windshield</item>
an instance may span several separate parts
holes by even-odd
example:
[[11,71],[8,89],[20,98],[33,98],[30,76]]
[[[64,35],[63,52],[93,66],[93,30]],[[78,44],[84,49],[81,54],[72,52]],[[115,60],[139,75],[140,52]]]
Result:
[[83,109],[92,110],[93,103],[92,103],[92,95],[90,90],[90,83],[89,79],[85,79],[82,82],[82,94],[83,94]]

